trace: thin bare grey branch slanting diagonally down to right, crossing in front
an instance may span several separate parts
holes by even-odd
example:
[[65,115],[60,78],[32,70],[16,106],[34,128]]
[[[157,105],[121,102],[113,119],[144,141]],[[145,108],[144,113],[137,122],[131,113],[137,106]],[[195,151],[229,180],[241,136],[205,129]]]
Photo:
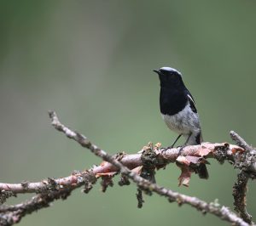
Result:
[[70,129],[63,126],[58,120],[55,112],[49,112],[49,116],[52,120],[52,125],[62,133],[65,133],[68,138],[73,138],[82,146],[88,148],[95,155],[102,157],[103,160],[108,161],[114,167],[117,167],[122,174],[125,174],[128,178],[131,178],[140,188],[145,190],[151,190],[159,195],[166,196],[169,201],[176,201],[179,205],[183,203],[194,206],[202,212],[210,212],[219,218],[222,218],[230,223],[235,223],[236,225],[247,225],[241,218],[238,218],[235,213],[230,212],[230,210],[224,206],[219,207],[218,205],[208,204],[205,201],[201,201],[195,197],[190,197],[188,195],[182,195],[177,192],[173,192],[170,189],[160,187],[158,184],[152,184],[148,180],[140,177],[137,173],[132,172],[127,167],[125,167],[120,161],[111,155],[108,155],[104,150],[99,149],[95,144],[91,144],[90,141],[80,133],[73,133]]

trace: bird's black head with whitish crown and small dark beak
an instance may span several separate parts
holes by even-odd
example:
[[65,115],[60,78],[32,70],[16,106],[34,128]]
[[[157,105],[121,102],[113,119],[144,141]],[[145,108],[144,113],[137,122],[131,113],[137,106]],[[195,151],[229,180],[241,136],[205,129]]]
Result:
[[173,88],[183,86],[182,74],[172,67],[161,67],[159,70],[153,70],[159,75],[160,86]]

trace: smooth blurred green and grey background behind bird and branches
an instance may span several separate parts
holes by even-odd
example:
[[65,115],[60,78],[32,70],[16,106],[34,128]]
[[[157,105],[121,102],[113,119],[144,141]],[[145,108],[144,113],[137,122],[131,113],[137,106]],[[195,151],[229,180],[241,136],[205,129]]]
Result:
[[[206,141],[230,142],[235,130],[255,144],[255,1],[1,1],[0,179],[18,183],[64,177],[101,160],[57,133],[47,110],[114,154],[148,141],[171,144],[160,117],[159,81],[152,72],[183,72]],[[237,170],[211,161],[209,180],[193,175],[177,187],[175,165],[158,184],[232,208]],[[79,190],[33,213],[21,225],[228,225],[159,195],[137,209],[136,186],[102,194]],[[256,220],[255,183],[248,210]],[[22,201],[21,195],[9,203]]]

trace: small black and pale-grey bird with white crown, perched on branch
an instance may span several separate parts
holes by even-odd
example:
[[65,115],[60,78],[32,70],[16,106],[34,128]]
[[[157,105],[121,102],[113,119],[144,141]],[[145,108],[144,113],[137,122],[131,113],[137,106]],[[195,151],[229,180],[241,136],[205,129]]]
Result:
[[188,88],[185,87],[182,74],[171,67],[154,70],[160,78],[160,112],[167,127],[183,136],[184,145],[201,144],[201,126],[199,116]]

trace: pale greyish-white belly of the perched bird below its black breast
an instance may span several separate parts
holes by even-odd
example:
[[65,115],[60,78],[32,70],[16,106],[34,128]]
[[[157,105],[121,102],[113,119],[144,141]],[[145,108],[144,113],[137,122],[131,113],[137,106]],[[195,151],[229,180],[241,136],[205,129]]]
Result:
[[179,134],[200,132],[200,122],[197,114],[192,112],[189,105],[173,116],[162,114],[167,127]]

